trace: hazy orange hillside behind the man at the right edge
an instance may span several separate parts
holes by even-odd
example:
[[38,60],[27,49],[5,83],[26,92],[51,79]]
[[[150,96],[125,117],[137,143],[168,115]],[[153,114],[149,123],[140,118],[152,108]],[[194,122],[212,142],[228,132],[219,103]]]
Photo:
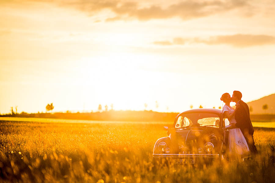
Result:
[[[247,102],[250,114],[275,114],[275,93],[258,100]],[[266,109],[263,106],[266,105]]]

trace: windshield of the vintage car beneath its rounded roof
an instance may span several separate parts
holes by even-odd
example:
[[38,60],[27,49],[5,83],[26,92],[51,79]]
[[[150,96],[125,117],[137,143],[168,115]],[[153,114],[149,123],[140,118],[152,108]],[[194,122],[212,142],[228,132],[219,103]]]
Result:
[[215,113],[183,113],[178,117],[176,128],[191,125],[219,127],[220,117]]

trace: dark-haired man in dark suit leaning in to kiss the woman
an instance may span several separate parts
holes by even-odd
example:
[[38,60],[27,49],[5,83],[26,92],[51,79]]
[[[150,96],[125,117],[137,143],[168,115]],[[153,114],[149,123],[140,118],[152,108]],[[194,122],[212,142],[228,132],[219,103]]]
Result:
[[242,93],[240,91],[233,91],[232,102],[236,102],[236,105],[238,105],[235,112],[236,127],[243,132],[250,152],[256,154],[257,149],[253,138],[254,129],[250,120],[249,108],[241,98]]

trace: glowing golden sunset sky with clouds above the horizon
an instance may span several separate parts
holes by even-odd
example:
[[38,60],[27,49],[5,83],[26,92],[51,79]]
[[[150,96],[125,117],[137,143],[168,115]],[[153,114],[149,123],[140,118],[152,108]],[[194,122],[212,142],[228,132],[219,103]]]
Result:
[[0,16],[0,113],[181,112],[275,93],[274,0],[2,0]]

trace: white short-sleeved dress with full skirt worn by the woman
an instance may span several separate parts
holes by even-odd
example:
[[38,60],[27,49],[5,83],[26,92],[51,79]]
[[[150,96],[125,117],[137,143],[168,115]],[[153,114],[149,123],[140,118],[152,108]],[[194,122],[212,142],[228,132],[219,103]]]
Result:
[[[234,112],[234,109],[231,106],[225,105],[222,108],[222,112],[225,112],[225,111],[228,111],[229,114],[232,114]],[[237,123],[234,116],[228,120],[229,120],[229,124]],[[228,142],[229,142],[229,153],[231,154],[242,155],[249,151],[247,142],[240,128],[233,128],[229,130]]]

